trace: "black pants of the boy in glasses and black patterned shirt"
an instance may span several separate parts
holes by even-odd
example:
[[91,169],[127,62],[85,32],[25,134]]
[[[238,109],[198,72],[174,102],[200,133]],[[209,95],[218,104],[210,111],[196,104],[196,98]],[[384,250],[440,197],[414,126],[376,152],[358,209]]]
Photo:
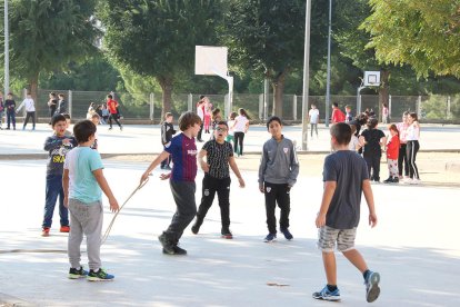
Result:
[[209,208],[212,206],[217,192],[222,228],[230,227],[230,177],[218,179],[208,174],[204,175],[201,204],[198,208],[197,220],[202,221],[204,219]]

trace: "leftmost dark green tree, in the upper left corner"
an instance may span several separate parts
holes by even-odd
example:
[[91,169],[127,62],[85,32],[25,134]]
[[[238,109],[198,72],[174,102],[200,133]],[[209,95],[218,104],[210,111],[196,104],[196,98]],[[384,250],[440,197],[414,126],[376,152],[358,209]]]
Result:
[[[37,99],[39,75],[64,70],[97,50],[94,0],[11,1],[10,68]],[[36,100],[37,101],[37,100]]]

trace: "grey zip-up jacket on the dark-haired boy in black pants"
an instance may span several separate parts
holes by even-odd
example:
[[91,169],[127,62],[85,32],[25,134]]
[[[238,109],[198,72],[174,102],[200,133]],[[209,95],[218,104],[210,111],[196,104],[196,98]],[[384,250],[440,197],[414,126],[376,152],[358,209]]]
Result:
[[282,137],[278,142],[274,138],[263,145],[259,167],[259,184],[288,184],[293,186],[299,175],[299,160],[296,148],[290,139]]

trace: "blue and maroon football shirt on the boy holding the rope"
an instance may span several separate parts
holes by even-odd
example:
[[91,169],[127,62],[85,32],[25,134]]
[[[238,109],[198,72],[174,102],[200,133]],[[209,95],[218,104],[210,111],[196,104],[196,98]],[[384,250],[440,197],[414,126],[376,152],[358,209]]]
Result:
[[197,145],[194,138],[180,133],[164,145],[172,157],[172,181],[194,181],[197,177]]

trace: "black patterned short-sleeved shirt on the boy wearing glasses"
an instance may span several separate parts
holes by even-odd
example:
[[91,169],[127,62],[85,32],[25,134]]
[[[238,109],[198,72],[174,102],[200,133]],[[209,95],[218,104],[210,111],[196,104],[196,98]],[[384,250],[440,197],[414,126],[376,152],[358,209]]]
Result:
[[233,157],[233,147],[228,141],[218,143],[216,140],[207,141],[203,150],[208,152],[207,164],[209,165],[209,175],[214,178],[230,177],[229,158]]

